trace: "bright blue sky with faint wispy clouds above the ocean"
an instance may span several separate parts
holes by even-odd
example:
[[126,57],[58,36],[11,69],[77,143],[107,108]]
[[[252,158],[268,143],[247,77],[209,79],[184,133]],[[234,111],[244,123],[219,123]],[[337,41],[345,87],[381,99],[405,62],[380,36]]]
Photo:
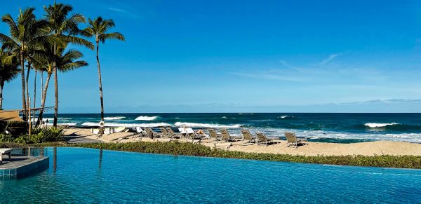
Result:
[[[126,36],[100,46],[106,112],[421,111],[420,1],[58,2]],[[62,113],[100,110],[95,53],[80,49],[90,65],[59,74]],[[6,84],[4,108],[20,88]]]

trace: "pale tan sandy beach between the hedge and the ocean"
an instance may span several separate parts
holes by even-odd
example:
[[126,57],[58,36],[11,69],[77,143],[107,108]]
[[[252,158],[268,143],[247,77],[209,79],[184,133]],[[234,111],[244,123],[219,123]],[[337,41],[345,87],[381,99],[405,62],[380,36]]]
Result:
[[[65,135],[85,137],[88,140],[98,140],[98,142],[169,142],[168,138],[139,137],[133,132],[117,132],[109,135],[93,135],[90,129],[67,128]],[[192,140],[179,140],[180,142],[192,142]],[[199,142],[195,140],[194,142]],[[269,146],[246,144],[244,141],[239,142],[213,142],[210,140],[202,140],[203,144],[212,148],[227,149],[228,151],[245,151],[255,153],[272,153],[272,154],[291,154],[305,156],[345,156],[345,155],[415,155],[421,156],[421,144],[410,142],[359,142],[352,144],[327,143],[327,142],[307,142],[307,144],[298,147],[286,147],[286,141],[279,144],[271,144]]]

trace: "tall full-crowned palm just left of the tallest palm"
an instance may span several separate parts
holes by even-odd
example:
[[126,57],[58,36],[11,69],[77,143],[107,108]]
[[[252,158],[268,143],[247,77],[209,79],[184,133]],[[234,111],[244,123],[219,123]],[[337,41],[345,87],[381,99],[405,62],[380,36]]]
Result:
[[34,15],[35,8],[19,10],[18,18],[13,20],[10,14],[4,15],[1,20],[5,22],[10,30],[11,36],[0,34],[2,48],[11,50],[20,57],[20,74],[22,76],[22,109],[23,118],[27,119],[27,97],[25,97],[25,56],[27,50],[38,46],[48,40],[46,37],[46,20],[37,20]]

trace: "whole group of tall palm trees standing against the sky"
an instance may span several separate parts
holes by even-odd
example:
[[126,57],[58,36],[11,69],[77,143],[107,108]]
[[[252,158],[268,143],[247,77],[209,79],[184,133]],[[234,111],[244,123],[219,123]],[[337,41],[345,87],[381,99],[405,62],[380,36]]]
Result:
[[[22,83],[22,114],[28,121],[29,98],[35,107],[36,101],[36,74],[41,73],[41,83],[44,82],[43,74],[46,73],[46,83],[41,90],[41,108],[36,121],[36,126],[43,120],[46,111],[46,94],[54,78],[54,121],[57,126],[59,91],[58,73],[69,72],[79,67],[86,67],[88,63],[81,60],[83,53],[75,49],[83,46],[93,50],[94,44],[89,41],[93,37],[96,44],[96,60],[98,64],[98,79],[100,87],[101,121],[104,120],[104,103],[102,98],[102,79],[100,74],[99,43],[109,39],[124,40],[118,32],[109,32],[115,26],[112,19],[89,18],[86,28],[80,26],[86,23],[86,18],[80,13],[73,13],[73,7],[67,4],[54,2],[44,6],[44,16],[36,18],[35,8],[19,9],[17,18],[6,13],[1,21],[8,25],[8,33],[0,33],[0,109],[2,109],[4,83],[20,75]],[[74,46],[69,46],[74,45]],[[70,48],[72,47],[72,48]],[[26,71],[26,72],[25,72]],[[34,94],[29,94],[29,75],[35,73]],[[25,77],[26,74],[26,77]],[[32,123],[29,123],[30,125]],[[30,126],[29,125],[29,126]],[[36,134],[35,134],[36,135]]]

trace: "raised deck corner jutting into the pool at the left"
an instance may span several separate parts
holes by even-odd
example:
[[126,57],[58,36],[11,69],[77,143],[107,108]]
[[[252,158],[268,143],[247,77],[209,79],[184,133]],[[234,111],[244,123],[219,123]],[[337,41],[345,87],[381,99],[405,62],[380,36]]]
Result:
[[13,156],[0,163],[1,177],[20,177],[48,168],[48,156]]

